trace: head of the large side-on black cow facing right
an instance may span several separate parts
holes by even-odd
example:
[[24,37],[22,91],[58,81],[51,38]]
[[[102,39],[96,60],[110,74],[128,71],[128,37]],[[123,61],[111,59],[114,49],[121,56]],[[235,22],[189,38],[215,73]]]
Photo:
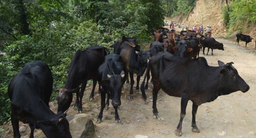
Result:
[[233,62],[224,64],[222,61],[218,61],[221,67],[221,82],[223,86],[233,92],[242,91],[247,92],[250,87],[244,82],[244,80],[238,75],[237,70],[232,66]]

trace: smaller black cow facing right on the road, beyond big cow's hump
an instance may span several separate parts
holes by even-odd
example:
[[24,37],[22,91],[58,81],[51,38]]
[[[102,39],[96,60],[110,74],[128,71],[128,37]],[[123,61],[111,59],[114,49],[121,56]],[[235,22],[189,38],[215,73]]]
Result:
[[210,48],[211,48],[211,55],[213,55],[213,49],[224,50],[223,44],[217,42],[214,38],[210,38],[210,37],[204,37],[204,38],[205,38],[204,41],[202,41],[203,54],[204,54],[205,47],[208,47],[207,55]]

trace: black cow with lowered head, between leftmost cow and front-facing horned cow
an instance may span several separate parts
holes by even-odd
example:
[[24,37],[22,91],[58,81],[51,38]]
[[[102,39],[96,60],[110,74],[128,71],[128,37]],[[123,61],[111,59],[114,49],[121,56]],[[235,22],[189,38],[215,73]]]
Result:
[[[58,112],[66,111],[73,99],[73,94],[76,93],[76,101],[74,108],[78,107],[78,112],[82,113],[82,99],[87,80],[93,80],[93,87],[90,95],[90,100],[93,99],[95,86],[97,83],[97,70],[103,63],[108,49],[103,46],[92,46],[85,50],[78,50],[71,61],[67,82],[62,89],[57,89]],[[79,85],[82,83],[79,93]]]

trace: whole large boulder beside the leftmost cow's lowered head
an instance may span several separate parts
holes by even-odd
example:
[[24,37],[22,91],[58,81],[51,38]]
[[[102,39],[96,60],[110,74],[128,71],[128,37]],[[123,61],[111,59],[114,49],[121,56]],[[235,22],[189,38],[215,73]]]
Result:
[[95,127],[87,114],[68,116],[69,130],[72,138],[91,138],[95,134]]

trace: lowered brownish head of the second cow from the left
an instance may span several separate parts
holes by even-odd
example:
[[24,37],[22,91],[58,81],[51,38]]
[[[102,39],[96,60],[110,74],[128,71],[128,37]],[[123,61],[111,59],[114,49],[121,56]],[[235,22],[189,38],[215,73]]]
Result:
[[58,103],[58,112],[66,111],[73,99],[73,93],[76,91],[79,91],[80,87],[74,88],[74,89],[67,89],[67,88],[62,88],[62,89],[57,89],[56,91],[58,92],[56,100]]

